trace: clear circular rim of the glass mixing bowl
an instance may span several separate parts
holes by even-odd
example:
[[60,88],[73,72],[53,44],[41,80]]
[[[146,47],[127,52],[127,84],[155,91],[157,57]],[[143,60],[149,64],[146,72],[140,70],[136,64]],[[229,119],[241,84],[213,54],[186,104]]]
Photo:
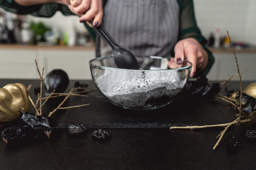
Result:
[[[145,57],[149,57],[149,56],[152,56],[152,57],[160,57],[160,56],[153,56],[153,55],[136,55],[136,56],[145,56]],[[106,66],[99,66],[99,65],[95,65],[95,64],[92,64],[92,62],[94,60],[97,60],[97,59],[104,59],[104,58],[111,58],[111,57],[114,57],[114,56],[104,56],[104,57],[97,57],[97,58],[94,58],[92,60],[89,61],[90,65],[93,65],[93,66],[97,66],[97,67],[102,67],[102,68],[108,68],[108,69],[118,69],[118,70],[135,70],[135,69],[120,69],[120,68],[113,68],[113,67],[106,67]],[[161,58],[174,58],[174,57],[161,57]],[[186,61],[188,63],[190,63],[190,66],[186,66],[186,67],[181,67],[181,68],[177,68],[177,69],[160,69],[160,70],[184,70],[184,69],[190,69],[192,68],[192,63],[188,60],[183,60],[183,61]],[[139,69],[139,70],[144,70],[144,69]],[[148,70],[147,70],[148,71]],[[152,70],[154,71],[154,70]]]

